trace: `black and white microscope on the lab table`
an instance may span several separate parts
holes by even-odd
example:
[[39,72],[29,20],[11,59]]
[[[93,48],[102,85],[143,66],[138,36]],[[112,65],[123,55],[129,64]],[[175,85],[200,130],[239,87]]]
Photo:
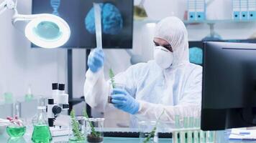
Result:
[[65,84],[52,84],[52,98],[48,98],[47,118],[49,127],[54,127],[55,119],[61,112],[68,110],[68,94],[65,94]]

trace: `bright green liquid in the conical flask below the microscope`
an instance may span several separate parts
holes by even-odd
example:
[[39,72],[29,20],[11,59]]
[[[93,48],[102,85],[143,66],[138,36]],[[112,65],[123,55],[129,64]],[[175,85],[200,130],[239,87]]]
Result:
[[52,140],[50,129],[46,124],[40,124],[34,126],[32,134],[32,141],[35,143],[47,143]]

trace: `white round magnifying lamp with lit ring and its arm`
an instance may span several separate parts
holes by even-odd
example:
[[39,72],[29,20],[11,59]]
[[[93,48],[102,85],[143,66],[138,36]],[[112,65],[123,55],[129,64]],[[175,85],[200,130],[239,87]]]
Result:
[[18,14],[17,1],[5,0],[0,4],[0,14],[6,9],[14,10],[12,24],[17,21],[29,21],[25,26],[25,36],[33,44],[42,48],[57,48],[63,46],[70,37],[70,27],[67,22],[53,14]]

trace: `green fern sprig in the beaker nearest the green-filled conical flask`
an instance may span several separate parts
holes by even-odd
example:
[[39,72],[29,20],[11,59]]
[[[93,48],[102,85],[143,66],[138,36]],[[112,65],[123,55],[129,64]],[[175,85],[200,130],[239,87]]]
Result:
[[71,125],[72,125],[72,131],[74,136],[79,140],[82,141],[85,138],[83,137],[83,134],[80,132],[79,122],[76,120],[75,110],[72,109],[70,112],[71,117]]

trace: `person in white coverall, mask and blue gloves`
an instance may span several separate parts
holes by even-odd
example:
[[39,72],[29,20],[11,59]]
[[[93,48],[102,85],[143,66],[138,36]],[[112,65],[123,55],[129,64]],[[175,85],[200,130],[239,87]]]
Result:
[[[161,20],[149,42],[155,43],[154,60],[130,66],[114,77],[125,88],[114,89],[111,102],[131,114],[130,127],[137,127],[139,121],[157,120],[163,111],[160,120],[174,122],[175,115],[193,116],[201,107],[202,67],[189,62],[188,32],[183,21],[174,16]],[[100,112],[108,105],[110,87],[103,65],[104,52],[91,51],[84,96],[86,103]]]

